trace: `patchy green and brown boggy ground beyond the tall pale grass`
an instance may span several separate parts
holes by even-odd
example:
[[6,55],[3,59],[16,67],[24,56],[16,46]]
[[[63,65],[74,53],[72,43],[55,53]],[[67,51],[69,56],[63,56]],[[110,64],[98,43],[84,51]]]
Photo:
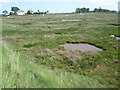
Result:
[[[59,21],[80,19],[81,21]],[[29,62],[98,80],[107,87],[118,87],[117,14],[86,13],[3,17],[2,37],[14,52]],[[106,51],[69,51],[67,42],[86,42]],[[99,77],[99,78],[98,78]]]

